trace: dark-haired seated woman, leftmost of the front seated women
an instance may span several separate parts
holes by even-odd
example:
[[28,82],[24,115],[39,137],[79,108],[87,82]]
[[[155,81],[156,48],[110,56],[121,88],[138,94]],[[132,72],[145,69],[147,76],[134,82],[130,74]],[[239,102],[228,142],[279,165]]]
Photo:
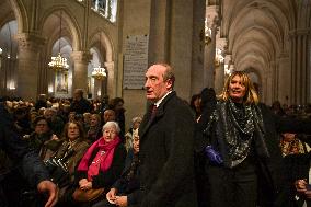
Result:
[[55,153],[61,145],[61,140],[53,134],[49,122],[44,116],[38,116],[34,120],[35,131],[30,136],[24,136],[28,145],[41,157],[42,160],[47,160]]

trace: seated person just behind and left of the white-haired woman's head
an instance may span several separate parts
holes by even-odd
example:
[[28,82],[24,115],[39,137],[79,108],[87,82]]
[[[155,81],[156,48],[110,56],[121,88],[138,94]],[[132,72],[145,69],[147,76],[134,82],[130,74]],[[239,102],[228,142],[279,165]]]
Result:
[[87,139],[90,143],[93,143],[103,136],[101,128],[101,116],[99,114],[92,114],[90,117],[90,127],[87,135]]

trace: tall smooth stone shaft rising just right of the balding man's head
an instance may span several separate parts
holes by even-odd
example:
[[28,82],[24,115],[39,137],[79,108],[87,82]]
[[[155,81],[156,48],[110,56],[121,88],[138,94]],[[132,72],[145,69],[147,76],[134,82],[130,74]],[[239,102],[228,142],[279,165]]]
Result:
[[170,62],[175,68],[177,94],[189,100],[192,94],[193,1],[171,1]]

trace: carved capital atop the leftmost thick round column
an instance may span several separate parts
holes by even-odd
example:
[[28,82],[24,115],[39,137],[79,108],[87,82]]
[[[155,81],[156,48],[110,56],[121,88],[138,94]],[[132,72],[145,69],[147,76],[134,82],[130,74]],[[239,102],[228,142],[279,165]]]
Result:
[[38,51],[45,44],[45,38],[32,33],[19,33],[14,36],[21,50]]

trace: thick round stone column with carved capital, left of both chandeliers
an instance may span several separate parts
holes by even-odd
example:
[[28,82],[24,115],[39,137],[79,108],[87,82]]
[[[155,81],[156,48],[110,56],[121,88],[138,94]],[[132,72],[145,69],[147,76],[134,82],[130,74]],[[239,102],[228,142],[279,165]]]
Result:
[[38,88],[39,51],[45,41],[43,37],[20,33],[15,36],[19,42],[18,95],[24,100],[35,101]]

